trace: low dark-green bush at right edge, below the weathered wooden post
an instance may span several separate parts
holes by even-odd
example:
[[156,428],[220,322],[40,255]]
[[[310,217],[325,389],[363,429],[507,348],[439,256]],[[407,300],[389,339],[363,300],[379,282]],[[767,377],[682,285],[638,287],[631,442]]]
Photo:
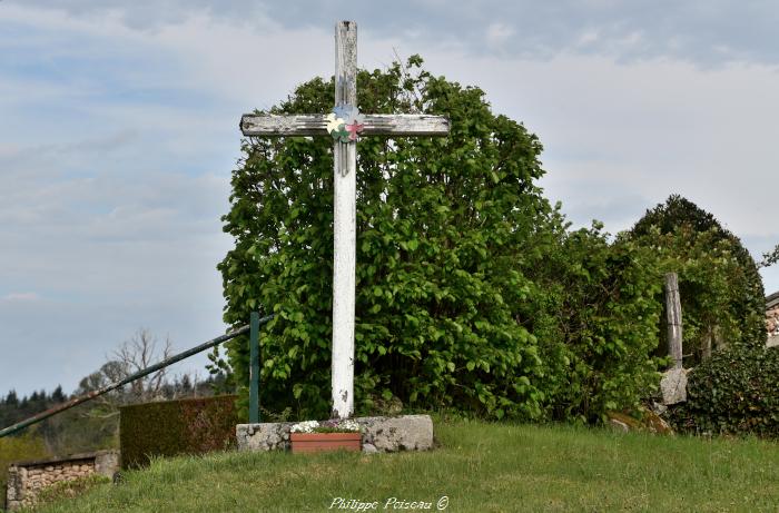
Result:
[[779,348],[714,353],[689,373],[687,403],[670,420],[686,433],[779,437]]

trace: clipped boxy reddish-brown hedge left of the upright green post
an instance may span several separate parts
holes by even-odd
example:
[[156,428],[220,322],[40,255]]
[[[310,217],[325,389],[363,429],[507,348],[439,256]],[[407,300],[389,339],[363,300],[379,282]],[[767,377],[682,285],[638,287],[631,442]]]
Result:
[[154,456],[201,454],[235,445],[235,395],[134,404],[120,408],[124,468]]

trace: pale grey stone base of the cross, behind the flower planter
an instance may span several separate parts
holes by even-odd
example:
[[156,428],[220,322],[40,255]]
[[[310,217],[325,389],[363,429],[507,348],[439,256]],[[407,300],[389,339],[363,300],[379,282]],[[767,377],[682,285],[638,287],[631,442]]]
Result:
[[[428,415],[400,417],[357,417],[363,434],[363,452],[394,453],[427,451],[433,447],[433,421]],[[289,430],[294,422],[238,424],[235,428],[238,451],[289,448]]]

